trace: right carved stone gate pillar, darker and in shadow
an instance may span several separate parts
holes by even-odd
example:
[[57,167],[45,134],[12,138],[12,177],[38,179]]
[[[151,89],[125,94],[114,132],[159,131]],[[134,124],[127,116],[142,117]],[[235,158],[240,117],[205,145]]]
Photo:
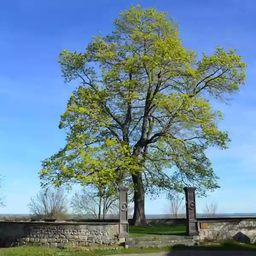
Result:
[[198,236],[198,227],[196,221],[195,209],[195,188],[185,187],[186,197],[186,233],[187,236]]

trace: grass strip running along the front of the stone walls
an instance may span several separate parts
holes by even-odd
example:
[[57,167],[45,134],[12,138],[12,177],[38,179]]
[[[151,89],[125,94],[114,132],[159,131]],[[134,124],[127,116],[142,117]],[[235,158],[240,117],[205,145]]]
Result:
[[50,249],[44,247],[15,247],[0,248],[0,256],[104,256],[111,254],[129,254],[129,253],[157,253],[168,252],[172,250],[222,250],[222,251],[255,251],[256,245],[241,244],[236,241],[218,241],[218,244],[202,243],[200,246],[175,245],[174,247],[162,248],[120,248],[116,250],[75,250],[75,249]]

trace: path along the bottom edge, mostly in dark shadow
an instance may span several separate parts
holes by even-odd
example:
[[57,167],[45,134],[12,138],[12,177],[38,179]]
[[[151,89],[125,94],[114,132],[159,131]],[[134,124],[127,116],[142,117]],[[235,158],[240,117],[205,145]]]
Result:
[[[110,255],[117,256],[117,255]],[[253,251],[209,251],[209,250],[176,250],[171,253],[131,253],[118,254],[118,256],[256,256]]]

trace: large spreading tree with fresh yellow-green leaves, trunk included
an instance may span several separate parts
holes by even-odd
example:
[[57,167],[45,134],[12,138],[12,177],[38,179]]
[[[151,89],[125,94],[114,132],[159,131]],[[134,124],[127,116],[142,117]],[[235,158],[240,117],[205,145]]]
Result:
[[145,193],[218,187],[205,152],[227,148],[229,138],[210,100],[239,90],[246,65],[220,47],[198,58],[154,8],[132,6],[113,23],[84,53],[59,55],[65,82],[80,85],[61,116],[67,144],[44,160],[41,178],[57,186],[125,180],[134,188],[134,223],[145,224]]

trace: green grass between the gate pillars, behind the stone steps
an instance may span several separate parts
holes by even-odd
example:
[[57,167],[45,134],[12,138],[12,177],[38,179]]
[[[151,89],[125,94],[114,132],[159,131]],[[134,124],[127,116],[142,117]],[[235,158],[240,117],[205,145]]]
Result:
[[160,236],[160,235],[186,235],[185,225],[156,225],[156,226],[146,226],[146,227],[135,227],[129,226],[129,235],[131,237],[137,236]]

